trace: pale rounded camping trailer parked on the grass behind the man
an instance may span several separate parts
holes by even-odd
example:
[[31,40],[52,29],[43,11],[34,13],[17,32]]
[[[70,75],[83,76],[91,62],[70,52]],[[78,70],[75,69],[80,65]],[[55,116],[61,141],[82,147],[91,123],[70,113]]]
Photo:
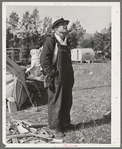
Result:
[[71,50],[72,61],[93,61],[95,58],[95,52],[91,48],[75,48]]

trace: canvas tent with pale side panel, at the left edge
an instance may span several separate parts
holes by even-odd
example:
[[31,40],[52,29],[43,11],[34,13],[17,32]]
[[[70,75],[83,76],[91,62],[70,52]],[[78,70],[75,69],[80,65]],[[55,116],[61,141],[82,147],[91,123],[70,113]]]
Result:
[[6,98],[14,97],[18,110],[27,99],[33,104],[26,85],[25,68],[6,57],[6,71],[6,76],[9,76],[9,79],[6,79]]

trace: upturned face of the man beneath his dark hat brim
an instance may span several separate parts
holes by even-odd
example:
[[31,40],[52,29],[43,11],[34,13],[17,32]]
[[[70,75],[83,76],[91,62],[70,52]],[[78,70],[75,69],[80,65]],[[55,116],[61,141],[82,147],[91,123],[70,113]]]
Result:
[[67,23],[61,22],[56,25],[56,31],[59,33],[66,33],[67,32]]

